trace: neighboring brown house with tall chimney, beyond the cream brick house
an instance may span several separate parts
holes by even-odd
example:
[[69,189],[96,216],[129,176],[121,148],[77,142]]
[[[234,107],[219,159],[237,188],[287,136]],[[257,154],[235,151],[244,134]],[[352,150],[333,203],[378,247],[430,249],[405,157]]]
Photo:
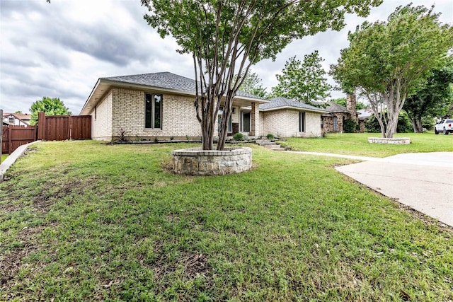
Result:
[[333,102],[316,103],[326,105],[327,113],[323,114],[321,127],[323,133],[343,133],[345,122],[348,119],[360,124],[359,115],[356,108],[355,95],[346,95],[346,107]]

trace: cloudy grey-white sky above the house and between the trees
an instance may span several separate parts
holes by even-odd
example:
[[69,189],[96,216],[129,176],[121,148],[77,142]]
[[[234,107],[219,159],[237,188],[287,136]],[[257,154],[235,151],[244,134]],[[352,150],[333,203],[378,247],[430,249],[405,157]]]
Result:
[[[348,47],[349,30],[365,20],[384,21],[410,2],[384,0],[366,19],[347,16],[342,31],[294,41],[275,62],[260,62],[253,71],[268,92],[289,57],[302,60],[319,50],[327,71]],[[412,2],[435,4],[440,20],[453,23],[453,0]],[[78,115],[100,77],[170,71],[193,79],[192,58],[178,54],[171,37],[159,37],[144,21],[146,12],[139,0],[0,0],[0,109],[30,112],[35,100],[48,96]],[[341,96],[332,92],[333,98]]]

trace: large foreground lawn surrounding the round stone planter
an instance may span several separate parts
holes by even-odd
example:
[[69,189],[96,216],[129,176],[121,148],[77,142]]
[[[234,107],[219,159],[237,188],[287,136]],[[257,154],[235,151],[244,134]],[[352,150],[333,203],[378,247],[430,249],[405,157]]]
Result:
[[173,175],[188,146],[31,146],[0,184],[0,300],[453,300],[452,230],[347,160],[251,145],[248,173]]

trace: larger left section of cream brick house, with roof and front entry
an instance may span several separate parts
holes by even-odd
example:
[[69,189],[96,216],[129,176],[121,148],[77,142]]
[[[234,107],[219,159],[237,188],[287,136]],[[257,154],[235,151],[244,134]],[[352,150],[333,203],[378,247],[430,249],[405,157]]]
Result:
[[[201,127],[195,117],[194,102],[195,81],[184,76],[170,72],[113,76],[98,79],[81,115],[91,115],[91,137],[97,140],[111,141],[121,129],[131,139],[199,139]],[[242,132],[260,136],[258,106],[268,102],[238,91],[229,120],[229,135]]]

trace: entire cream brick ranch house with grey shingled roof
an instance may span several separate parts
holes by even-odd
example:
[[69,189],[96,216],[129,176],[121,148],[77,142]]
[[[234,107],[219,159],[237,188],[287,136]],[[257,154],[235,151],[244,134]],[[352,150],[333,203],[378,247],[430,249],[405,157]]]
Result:
[[[98,79],[80,114],[91,115],[91,137],[96,140],[115,140],[121,129],[130,139],[198,139],[201,127],[194,101],[193,79],[169,72],[113,76]],[[323,113],[326,110],[292,100],[266,100],[238,91],[229,136],[319,137]]]

